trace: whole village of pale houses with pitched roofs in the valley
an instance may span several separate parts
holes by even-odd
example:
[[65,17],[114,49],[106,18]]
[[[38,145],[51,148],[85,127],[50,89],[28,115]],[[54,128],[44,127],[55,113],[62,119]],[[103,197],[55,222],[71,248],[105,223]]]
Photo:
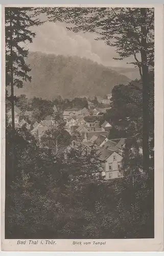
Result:
[[[95,108],[91,102],[88,102],[88,109],[66,109],[62,113],[64,121],[64,130],[72,137],[72,141],[66,148],[76,147],[81,145],[82,151],[90,150],[94,145],[99,153],[99,160],[102,162],[102,176],[105,180],[116,179],[123,177],[121,170],[121,164],[123,159],[123,148],[126,144],[125,138],[120,139],[108,139],[112,125],[106,120],[101,123],[102,117],[110,109],[111,95],[107,95],[106,99],[103,99],[103,103],[106,100],[108,108]],[[102,99],[101,99],[102,100]],[[55,127],[55,120],[53,116],[46,116],[40,122],[35,121],[31,123],[33,117],[33,111],[26,110],[24,115],[22,111],[15,106],[15,128],[26,126],[30,133],[41,140],[46,131]],[[58,113],[56,106],[54,105],[54,115]],[[8,122],[11,123],[11,109],[7,113]],[[75,140],[75,135],[81,136],[81,141]]]

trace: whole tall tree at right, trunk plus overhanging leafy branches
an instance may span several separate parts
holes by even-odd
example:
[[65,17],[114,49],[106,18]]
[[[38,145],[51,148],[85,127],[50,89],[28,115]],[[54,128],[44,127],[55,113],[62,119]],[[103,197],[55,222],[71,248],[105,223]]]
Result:
[[118,60],[134,56],[143,82],[143,169],[149,172],[149,69],[154,68],[154,8],[42,8],[51,22],[73,24],[68,27],[96,33],[119,54]]

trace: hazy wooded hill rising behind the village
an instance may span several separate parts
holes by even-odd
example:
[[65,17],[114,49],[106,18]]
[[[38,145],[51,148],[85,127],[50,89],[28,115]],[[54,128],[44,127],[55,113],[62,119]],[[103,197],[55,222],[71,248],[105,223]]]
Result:
[[130,81],[125,75],[77,56],[31,52],[27,61],[32,69],[32,82],[24,82],[22,89],[15,88],[15,94],[26,94],[28,98],[104,97],[115,85]]

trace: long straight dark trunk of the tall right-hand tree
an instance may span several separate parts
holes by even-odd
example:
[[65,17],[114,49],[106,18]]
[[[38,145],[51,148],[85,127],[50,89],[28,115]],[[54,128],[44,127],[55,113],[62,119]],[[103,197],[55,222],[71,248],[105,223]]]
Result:
[[140,13],[142,15],[140,54],[143,73],[143,170],[149,172],[149,69],[147,65],[146,8],[140,8]]

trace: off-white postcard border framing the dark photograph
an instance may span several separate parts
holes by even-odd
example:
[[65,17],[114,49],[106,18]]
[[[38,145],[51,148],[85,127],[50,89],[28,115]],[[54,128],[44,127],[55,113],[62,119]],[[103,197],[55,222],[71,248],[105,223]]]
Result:
[[[45,5],[5,5],[5,6],[45,6]],[[5,215],[5,36],[4,15],[2,23],[2,250],[4,251],[162,251],[163,250],[163,5],[49,5],[61,7],[154,7],[155,8],[155,238],[154,239],[106,239],[106,240],[71,240],[52,239],[54,245],[45,245],[45,240],[38,244],[17,244],[18,240],[7,240],[4,237]],[[2,7],[4,13],[4,6]],[[43,244],[41,244],[41,241]],[[76,242],[91,242],[90,245],[74,245]],[[104,245],[93,245],[103,242]]]

